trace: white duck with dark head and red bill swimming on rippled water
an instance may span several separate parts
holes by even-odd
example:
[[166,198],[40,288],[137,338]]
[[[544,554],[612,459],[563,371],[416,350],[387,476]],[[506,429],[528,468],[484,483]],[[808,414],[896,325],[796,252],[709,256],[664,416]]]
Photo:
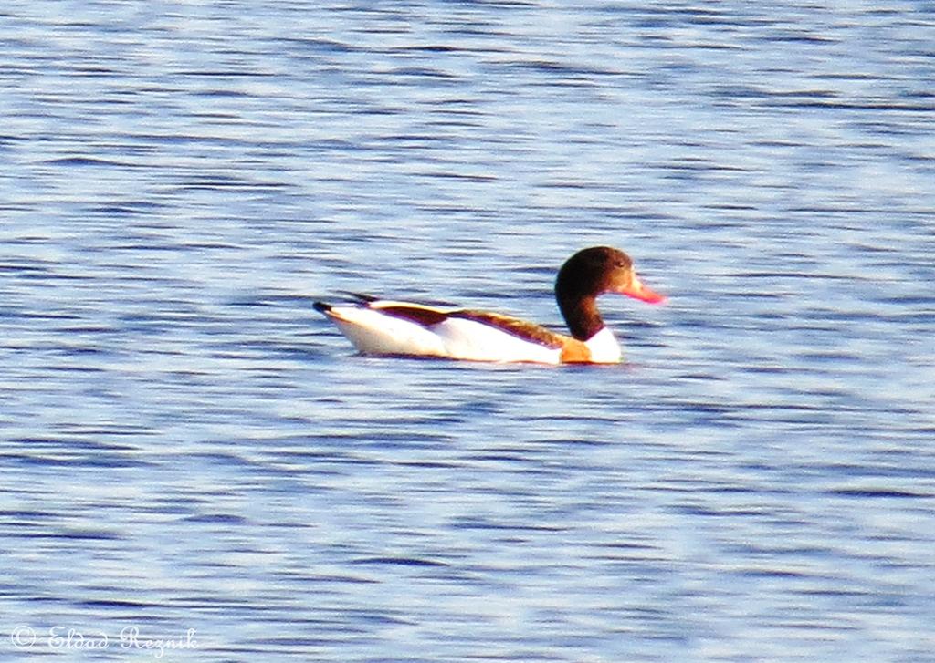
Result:
[[351,303],[315,302],[362,355],[542,364],[610,364],[620,344],[597,310],[597,298],[619,293],[645,303],[666,297],[643,284],[633,261],[613,247],[588,247],[555,278],[555,300],[568,334],[518,317],[348,293]]

